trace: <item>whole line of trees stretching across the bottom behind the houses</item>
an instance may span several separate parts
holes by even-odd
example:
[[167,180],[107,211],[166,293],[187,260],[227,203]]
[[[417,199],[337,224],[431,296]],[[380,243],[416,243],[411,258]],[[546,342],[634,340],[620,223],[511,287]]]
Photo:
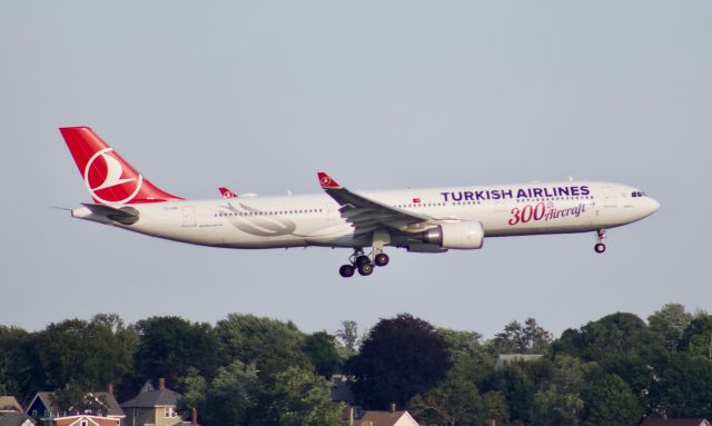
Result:
[[[502,354],[542,355],[507,358]],[[402,314],[359,335],[231,314],[215,325],[117,315],[0,326],[0,395],[27,404],[58,392],[65,408],[113,384],[119,402],[165,377],[206,426],[336,425],[330,377],[344,374],[366,409],[407,408],[428,425],[636,425],[649,415],[712,418],[712,316],[669,304],[647,318],[612,314],[561,338],[532,318],[493,339]]]

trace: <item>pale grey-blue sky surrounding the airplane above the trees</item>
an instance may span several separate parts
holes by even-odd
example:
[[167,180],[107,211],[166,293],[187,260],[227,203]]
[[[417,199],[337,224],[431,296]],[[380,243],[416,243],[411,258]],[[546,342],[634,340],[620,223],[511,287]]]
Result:
[[[486,337],[668,301],[712,309],[709,1],[2,1],[0,324],[228,313],[307,331],[412,313]],[[57,130],[155,184],[318,191],[609,180],[661,209],[593,235],[490,239],[342,279],[347,250],[221,250],[73,220]]]

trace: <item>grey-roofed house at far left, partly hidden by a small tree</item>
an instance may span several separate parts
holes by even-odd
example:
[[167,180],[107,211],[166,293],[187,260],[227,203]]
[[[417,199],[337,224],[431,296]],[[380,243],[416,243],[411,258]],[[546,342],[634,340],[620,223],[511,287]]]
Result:
[[[85,395],[85,398],[93,400],[98,406],[102,407],[99,413],[83,413],[83,414],[96,414],[102,415],[106,417],[116,418],[119,420],[118,425],[123,425],[123,418],[126,418],[126,414],[119,406],[119,403],[113,397],[113,388],[109,386],[109,392],[90,392]],[[72,409],[61,410],[55,404],[55,393],[52,392],[38,392],[37,395],[32,398],[32,402],[24,410],[26,414],[34,417],[36,419],[41,420],[51,420],[56,417],[65,417],[72,413]]]

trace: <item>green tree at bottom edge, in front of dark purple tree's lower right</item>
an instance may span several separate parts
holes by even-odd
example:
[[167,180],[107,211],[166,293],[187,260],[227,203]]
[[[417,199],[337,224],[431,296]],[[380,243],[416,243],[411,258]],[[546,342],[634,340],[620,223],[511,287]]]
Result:
[[413,397],[408,409],[428,425],[479,425],[485,420],[477,386],[456,367],[436,387]]

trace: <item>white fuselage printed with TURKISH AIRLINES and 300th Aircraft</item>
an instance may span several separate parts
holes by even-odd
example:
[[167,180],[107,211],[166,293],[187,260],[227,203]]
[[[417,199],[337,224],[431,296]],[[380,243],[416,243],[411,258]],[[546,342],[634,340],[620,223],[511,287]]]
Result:
[[[654,212],[659,204],[650,197],[633,196],[636,191],[617,184],[564,181],[358,194],[436,220],[479,221],[485,237],[504,237],[585,232],[640,220]],[[227,248],[367,247],[373,238],[373,234],[356,232],[339,205],[326,194],[155,202],[130,208],[139,214],[132,225],[96,217],[86,207],[75,209],[72,215],[159,238]],[[406,246],[408,238],[396,232],[389,245]]]

